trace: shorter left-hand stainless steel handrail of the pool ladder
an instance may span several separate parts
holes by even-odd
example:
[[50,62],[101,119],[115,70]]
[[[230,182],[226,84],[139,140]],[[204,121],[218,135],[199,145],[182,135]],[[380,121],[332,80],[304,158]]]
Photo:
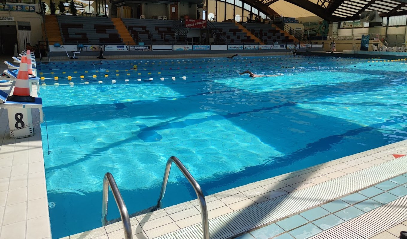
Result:
[[123,223],[123,230],[125,232],[125,239],[133,239],[133,235],[131,233],[129,212],[127,211],[125,201],[123,201],[122,194],[120,193],[116,181],[114,180],[111,173],[106,173],[105,177],[103,178],[102,225],[106,226],[107,224],[106,217],[109,186],[112,189],[114,200],[116,201],[117,207],[119,208],[120,217]]

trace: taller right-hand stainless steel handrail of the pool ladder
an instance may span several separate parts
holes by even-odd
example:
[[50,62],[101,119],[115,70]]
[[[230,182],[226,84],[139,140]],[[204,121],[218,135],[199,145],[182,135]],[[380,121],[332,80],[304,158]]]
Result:
[[197,193],[199,205],[201,206],[201,217],[202,217],[202,227],[204,229],[204,239],[209,239],[208,209],[206,208],[204,193],[202,193],[201,186],[199,186],[197,180],[195,180],[195,178],[189,173],[188,169],[186,169],[186,167],[181,163],[181,161],[179,161],[177,157],[171,156],[167,161],[167,164],[165,166],[164,178],[162,180],[160,198],[158,198],[157,206],[159,207],[162,206],[161,200],[164,198],[165,189],[167,187],[168,176],[170,175],[172,163],[175,163],[175,165],[177,165],[179,170],[181,170],[182,174],[184,174],[186,179],[188,179],[189,183],[194,188],[195,193]]

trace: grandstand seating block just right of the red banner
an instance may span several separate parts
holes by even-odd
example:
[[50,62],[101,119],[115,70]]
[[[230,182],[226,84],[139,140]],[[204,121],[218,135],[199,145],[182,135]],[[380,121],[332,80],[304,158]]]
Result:
[[[212,22],[212,24],[221,32],[221,35],[228,39],[228,44],[254,43],[254,39],[250,39],[250,37],[233,22]],[[217,36],[215,42],[223,43],[219,36]]]

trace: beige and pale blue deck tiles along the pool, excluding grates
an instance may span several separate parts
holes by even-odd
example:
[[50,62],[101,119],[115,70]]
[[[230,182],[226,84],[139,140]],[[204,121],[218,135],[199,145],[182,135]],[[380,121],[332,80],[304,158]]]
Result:
[[[11,84],[8,83],[0,84],[0,89],[5,91],[10,90],[10,87]],[[7,121],[7,110],[0,109],[0,140],[2,141],[0,146],[0,239],[50,239],[39,126],[35,128],[35,136],[12,140],[9,139]],[[210,219],[214,219],[284,195],[290,198],[302,189],[321,185],[335,178],[343,178],[375,165],[397,162],[393,160],[403,154],[407,154],[407,140],[215,193],[206,196],[208,215]],[[398,160],[400,159],[403,158]],[[282,217],[276,222],[249,229],[250,232],[236,236],[243,239],[309,238],[322,230],[349,221],[382,204],[405,196],[407,187],[404,184],[407,183],[407,177],[394,176],[389,174],[387,178],[390,180],[384,182],[380,180],[374,187],[356,190],[357,193],[346,193],[344,196],[330,200],[333,202],[324,202],[311,207],[311,210]],[[197,200],[131,218],[133,238],[139,239],[153,239],[199,222],[201,222],[201,215]],[[406,225],[405,222],[397,224],[373,238],[398,238],[400,230],[407,230]],[[307,231],[306,235],[304,231]],[[313,234],[308,233],[312,231],[314,231]],[[123,239],[124,235],[122,224],[118,222],[64,237],[64,239],[68,238]]]

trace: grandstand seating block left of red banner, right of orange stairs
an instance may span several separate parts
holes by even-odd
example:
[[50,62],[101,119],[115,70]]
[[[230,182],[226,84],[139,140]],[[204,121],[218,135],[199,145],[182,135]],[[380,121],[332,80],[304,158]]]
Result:
[[173,21],[136,18],[122,20],[136,43],[144,42],[145,45],[182,43],[175,37]]

